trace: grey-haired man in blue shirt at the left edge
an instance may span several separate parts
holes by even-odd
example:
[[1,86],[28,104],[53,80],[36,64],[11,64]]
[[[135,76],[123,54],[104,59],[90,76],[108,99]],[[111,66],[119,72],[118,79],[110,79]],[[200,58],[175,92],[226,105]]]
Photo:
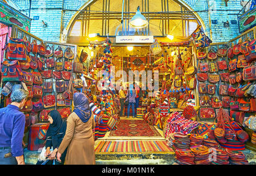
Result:
[[0,165],[24,165],[22,139],[25,115],[19,110],[28,92],[16,89],[11,93],[11,104],[0,109]]

